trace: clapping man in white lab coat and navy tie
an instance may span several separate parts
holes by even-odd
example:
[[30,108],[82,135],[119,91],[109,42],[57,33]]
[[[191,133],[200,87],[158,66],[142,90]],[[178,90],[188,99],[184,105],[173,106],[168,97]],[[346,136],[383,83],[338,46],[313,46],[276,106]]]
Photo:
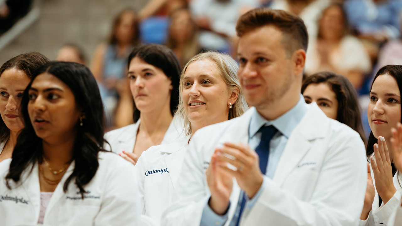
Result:
[[238,77],[250,108],[200,129],[162,225],[357,226],[367,185],[357,132],[300,95],[303,21],[259,8],[239,18]]

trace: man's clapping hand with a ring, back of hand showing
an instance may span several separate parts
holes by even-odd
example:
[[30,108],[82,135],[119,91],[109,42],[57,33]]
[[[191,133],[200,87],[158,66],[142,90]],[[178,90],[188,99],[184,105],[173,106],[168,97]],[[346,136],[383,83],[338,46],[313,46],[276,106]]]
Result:
[[[229,156],[228,156],[229,155]],[[248,145],[225,143],[217,152],[219,167],[236,177],[239,187],[252,199],[263,184],[263,174],[260,171],[258,154]],[[232,157],[233,156],[233,157]],[[237,168],[228,168],[227,163]]]

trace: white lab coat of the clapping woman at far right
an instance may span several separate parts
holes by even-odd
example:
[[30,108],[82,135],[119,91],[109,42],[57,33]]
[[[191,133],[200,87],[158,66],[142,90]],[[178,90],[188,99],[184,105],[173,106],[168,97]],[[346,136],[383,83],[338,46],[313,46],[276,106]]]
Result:
[[[371,168],[371,164],[370,164]],[[398,179],[399,177],[399,179]],[[375,179],[374,173],[371,169],[371,178],[373,179],[373,184],[375,188]],[[396,192],[394,196],[384,205],[384,202],[379,207],[378,193],[375,188],[375,196],[372,205],[372,210],[369,213],[369,217],[367,220],[360,220],[359,226],[392,226],[391,219],[395,218],[396,208],[400,203],[400,198],[402,194],[402,173],[400,171],[396,172],[393,178],[394,186],[396,188]]]

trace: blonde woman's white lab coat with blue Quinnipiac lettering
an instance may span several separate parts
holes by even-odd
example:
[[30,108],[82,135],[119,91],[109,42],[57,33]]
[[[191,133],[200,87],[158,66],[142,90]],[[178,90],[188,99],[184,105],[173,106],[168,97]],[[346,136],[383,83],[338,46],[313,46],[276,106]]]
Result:
[[152,146],[136,164],[142,214],[160,222],[162,213],[177,199],[175,189],[191,136]]

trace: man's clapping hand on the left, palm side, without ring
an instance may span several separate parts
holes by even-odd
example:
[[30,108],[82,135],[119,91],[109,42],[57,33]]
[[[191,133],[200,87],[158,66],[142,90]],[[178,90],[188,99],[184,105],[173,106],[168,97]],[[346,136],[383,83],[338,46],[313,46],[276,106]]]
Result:
[[215,149],[205,174],[211,191],[209,206],[216,214],[224,215],[228,210],[229,198],[233,189],[233,176],[219,167],[222,162],[219,162],[217,152],[219,152],[218,148]]

